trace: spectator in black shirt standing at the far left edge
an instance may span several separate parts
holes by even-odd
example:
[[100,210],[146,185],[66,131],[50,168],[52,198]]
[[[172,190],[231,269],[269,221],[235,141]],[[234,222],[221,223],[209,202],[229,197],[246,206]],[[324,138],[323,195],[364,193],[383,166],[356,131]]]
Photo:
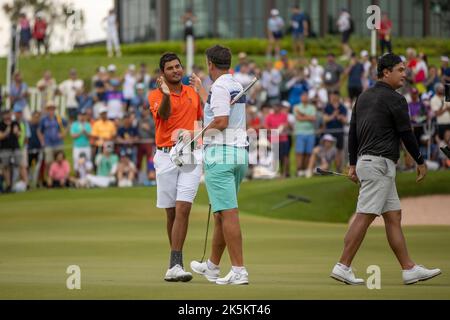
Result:
[[22,162],[19,150],[20,126],[12,119],[11,111],[4,111],[0,122],[0,170],[6,182],[6,192],[11,192],[12,181],[11,168],[17,168]]

